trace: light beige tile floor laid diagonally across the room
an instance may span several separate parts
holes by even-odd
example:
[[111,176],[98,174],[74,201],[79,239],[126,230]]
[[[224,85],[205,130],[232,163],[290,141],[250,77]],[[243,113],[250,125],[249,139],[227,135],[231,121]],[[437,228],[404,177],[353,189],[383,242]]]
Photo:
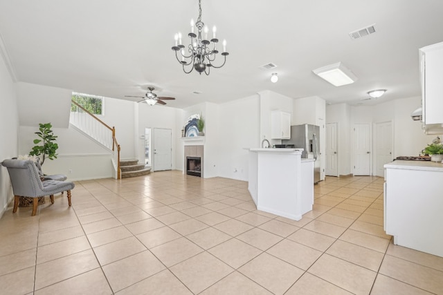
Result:
[[443,294],[443,258],[383,231],[383,179],[326,178],[294,221],[180,171],[76,183],[0,220],[1,294]]

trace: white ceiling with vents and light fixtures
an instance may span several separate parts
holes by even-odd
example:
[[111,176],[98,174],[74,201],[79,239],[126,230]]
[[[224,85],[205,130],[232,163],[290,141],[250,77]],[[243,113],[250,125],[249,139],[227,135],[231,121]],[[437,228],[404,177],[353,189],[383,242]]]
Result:
[[[183,73],[171,50],[198,0],[1,0],[0,34],[20,82],[118,99],[153,85],[177,108],[263,90],[354,105],[420,95],[418,48],[443,41],[440,0],[202,0],[202,10],[230,53],[209,76]],[[374,23],[376,33],[349,37]],[[312,73],[338,61],[356,83],[334,87]],[[270,62],[278,67],[258,68]],[[378,88],[388,92],[361,100]]]

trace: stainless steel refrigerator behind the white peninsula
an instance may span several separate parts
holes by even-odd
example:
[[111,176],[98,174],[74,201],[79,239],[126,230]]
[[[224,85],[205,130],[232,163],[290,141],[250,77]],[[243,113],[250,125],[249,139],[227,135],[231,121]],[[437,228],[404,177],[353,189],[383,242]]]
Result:
[[282,144],[293,144],[304,149],[302,158],[314,159],[314,183],[320,181],[320,127],[311,124],[291,126],[291,139],[282,140]]

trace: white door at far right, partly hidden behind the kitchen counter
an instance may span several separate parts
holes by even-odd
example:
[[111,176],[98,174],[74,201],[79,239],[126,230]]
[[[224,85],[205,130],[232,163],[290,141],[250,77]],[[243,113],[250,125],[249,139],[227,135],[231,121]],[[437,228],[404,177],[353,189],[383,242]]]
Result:
[[392,162],[392,122],[375,123],[375,175],[384,176],[383,165]]

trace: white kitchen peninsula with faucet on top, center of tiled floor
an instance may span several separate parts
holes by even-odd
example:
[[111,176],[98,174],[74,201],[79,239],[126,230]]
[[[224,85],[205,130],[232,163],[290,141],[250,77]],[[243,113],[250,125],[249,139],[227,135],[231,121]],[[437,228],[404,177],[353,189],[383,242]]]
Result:
[[260,211],[300,220],[314,204],[314,159],[302,149],[249,149],[248,190]]

